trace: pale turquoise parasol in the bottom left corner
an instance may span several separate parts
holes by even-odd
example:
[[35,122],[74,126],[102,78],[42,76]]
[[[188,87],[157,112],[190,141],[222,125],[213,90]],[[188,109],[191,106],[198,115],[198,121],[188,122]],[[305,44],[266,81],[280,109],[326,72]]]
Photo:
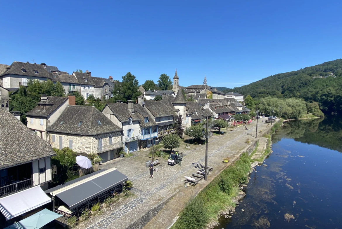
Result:
[[62,215],[43,209],[5,229],[39,229]]

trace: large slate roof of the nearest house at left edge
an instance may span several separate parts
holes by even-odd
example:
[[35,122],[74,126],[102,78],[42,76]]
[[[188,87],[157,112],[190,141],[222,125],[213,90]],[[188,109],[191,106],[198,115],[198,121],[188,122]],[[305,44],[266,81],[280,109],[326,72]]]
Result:
[[6,109],[0,109],[0,120],[0,169],[56,155],[48,142]]

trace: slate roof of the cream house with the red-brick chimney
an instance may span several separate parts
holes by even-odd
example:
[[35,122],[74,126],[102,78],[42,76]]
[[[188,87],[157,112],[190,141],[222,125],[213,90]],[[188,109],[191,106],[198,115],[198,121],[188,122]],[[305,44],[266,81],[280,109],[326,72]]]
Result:
[[68,99],[68,97],[53,97],[53,96],[47,96],[47,98],[48,98],[47,100],[42,100],[38,102],[38,105],[39,104],[46,105],[46,111],[38,110],[39,106],[37,105],[35,106],[34,109],[25,113],[25,115],[28,117],[30,116],[47,117],[52,112],[54,112],[58,108],[58,106],[62,105],[62,103]]

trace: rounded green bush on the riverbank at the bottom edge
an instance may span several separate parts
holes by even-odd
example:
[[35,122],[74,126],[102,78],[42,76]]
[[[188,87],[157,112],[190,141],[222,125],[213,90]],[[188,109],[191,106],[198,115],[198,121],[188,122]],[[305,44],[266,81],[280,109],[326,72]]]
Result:
[[208,215],[204,208],[204,201],[191,200],[180,213],[180,217],[172,228],[203,229],[208,223]]

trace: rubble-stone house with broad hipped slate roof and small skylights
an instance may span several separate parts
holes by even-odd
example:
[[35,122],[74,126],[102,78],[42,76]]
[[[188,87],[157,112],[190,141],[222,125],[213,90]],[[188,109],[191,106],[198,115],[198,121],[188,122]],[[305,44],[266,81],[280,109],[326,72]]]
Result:
[[122,148],[122,129],[93,106],[67,106],[47,132],[52,147],[96,153],[103,162],[119,157]]

